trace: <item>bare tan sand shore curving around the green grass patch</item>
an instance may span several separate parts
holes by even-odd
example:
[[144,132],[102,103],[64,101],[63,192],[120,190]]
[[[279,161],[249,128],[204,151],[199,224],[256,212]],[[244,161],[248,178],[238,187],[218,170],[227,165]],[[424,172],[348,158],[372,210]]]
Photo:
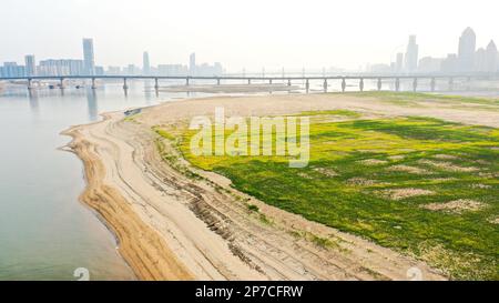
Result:
[[[424,262],[364,239],[309,222],[230,186],[213,173],[192,180],[167,165],[155,142],[175,153],[153,125],[175,124],[224,107],[227,115],[282,114],[352,109],[385,115],[424,115],[498,127],[498,112],[452,108],[403,108],[344,94],[210,98],[143,109],[136,122],[123,113],[64,133],[82,159],[88,188],[81,200],[99,212],[120,240],[120,252],[144,280],[407,280],[417,267],[425,280],[446,279]],[[221,190],[224,189],[224,190]],[[243,199],[235,199],[240,196]],[[251,215],[255,204],[274,224]],[[319,248],[293,235],[306,232],[338,243]]]

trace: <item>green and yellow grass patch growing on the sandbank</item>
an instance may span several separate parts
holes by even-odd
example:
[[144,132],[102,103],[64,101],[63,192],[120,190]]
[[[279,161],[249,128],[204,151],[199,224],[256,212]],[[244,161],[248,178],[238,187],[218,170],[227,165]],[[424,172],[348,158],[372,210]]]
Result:
[[194,156],[192,131],[179,148],[271,205],[416,255],[454,279],[499,279],[499,130],[314,113],[332,114],[350,120],[312,120],[304,169],[288,168],[286,156]]

